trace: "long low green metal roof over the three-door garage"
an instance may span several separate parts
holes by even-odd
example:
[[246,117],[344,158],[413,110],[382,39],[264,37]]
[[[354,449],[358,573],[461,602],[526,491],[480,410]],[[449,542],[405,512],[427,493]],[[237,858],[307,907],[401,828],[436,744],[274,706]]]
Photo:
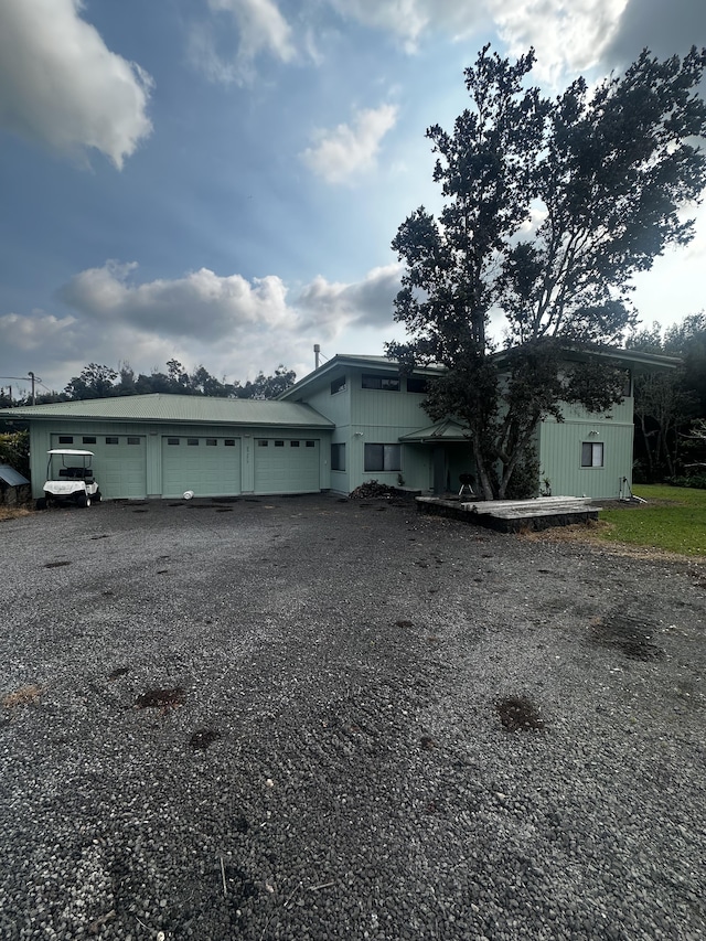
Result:
[[8,418],[107,419],[116,421],[179,421],[189,425],[272,425],[333,428],[309,405],[252,398],[211,398],[200,395],[125,395],[82,402],[56,402],[4,408]]

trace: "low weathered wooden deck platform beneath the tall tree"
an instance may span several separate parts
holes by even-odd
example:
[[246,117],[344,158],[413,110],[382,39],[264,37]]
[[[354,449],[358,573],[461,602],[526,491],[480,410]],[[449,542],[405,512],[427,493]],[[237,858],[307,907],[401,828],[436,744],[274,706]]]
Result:
[[536,500],[493,500],[467,502],[438,496],[418,496],[417,510],[434,516],[447,516],[475,523],[500,533],[521,530],[548,530],[598,520],[600,506],[590,496],[539,496]]

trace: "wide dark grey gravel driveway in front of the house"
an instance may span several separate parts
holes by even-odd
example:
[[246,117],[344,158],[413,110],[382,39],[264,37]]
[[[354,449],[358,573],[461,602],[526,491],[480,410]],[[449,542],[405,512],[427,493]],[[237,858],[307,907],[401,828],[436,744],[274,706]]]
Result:
[[704,939],[706,573],[335,496],[0,523],[2,939]]

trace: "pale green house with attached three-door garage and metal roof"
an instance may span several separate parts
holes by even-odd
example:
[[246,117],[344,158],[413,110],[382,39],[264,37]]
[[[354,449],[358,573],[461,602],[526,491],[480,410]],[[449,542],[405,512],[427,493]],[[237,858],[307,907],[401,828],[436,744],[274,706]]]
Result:
[[[618,496],[632,481],[635,370],[676,361],[611,351],[625,370],[625,396],[606,415],[566,408],[542,423],[541,479],[555,494]],[[361,483],[422,493],[458,491],[473,472],[472,445],[452,418],[422,409],[434,367],[400,373],[384,356],[338,355],[278,400],[137,395],[3,409],[30,425],[32,492],[40,496],[50,448],[95,453],[104,499],[350,493]]]

